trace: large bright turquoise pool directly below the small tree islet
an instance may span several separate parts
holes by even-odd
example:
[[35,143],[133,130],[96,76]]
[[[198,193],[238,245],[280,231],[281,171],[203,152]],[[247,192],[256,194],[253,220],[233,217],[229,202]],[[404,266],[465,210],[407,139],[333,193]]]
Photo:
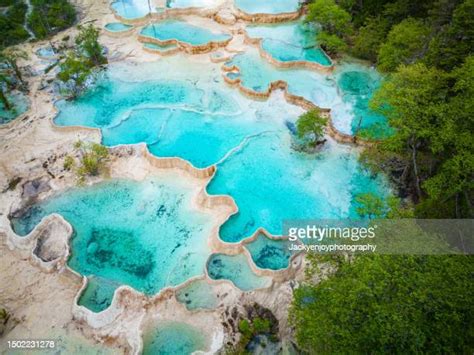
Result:
[[331,142],[316,155],[297,153],[282,129],[253,139],[220,164],[208,191],[236,201],[239,213],[221,227],[220,237],[237,242],[258,227],[280,235],[285,219],[357,218],[355,196],[384,190],[350,148]]

